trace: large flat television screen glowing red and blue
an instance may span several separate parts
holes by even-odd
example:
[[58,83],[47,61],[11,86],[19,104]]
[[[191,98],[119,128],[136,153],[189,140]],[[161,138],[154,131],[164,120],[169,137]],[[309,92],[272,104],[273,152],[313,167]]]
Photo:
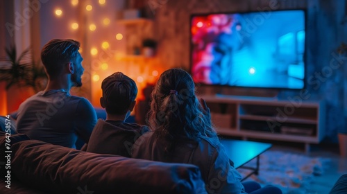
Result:
[[193,15],[190,30],[194,82],[304,88],[304,10]]

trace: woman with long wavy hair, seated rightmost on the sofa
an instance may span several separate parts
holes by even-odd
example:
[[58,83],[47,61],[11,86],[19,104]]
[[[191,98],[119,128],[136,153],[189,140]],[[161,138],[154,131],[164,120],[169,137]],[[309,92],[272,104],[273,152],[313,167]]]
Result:
[[151,96],[149,126],[154,131],[135,142],[132,157],[194,164],[201,170],[208,193],[246,193],[241,175],[212,127],[210,109],[205,100],[200,104],[195,96],[189,73],[164,71]]

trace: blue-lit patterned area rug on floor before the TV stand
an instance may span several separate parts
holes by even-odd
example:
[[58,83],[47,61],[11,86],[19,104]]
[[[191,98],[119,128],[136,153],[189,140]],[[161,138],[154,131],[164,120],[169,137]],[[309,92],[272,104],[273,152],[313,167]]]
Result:
[[[259,175],[252,175],[246,181],[254,180],[262,186],[278,186],[284,194],[317,193],[312,191],[310,184],[316,177],[323,175],[329,164],[330,159],[327,158],[269,150],[260,155]],[[252,167],[255,165],[255,159],[246,164]],[[242,176],[249,173],[249,170],[243,168],[237,170]]]

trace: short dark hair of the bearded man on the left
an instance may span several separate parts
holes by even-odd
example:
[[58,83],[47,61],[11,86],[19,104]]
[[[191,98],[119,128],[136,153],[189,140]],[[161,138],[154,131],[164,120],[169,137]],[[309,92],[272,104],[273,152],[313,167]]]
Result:
[[62,71],[62,64],[74,60],[80,43],[73,39],[52,39],[44,45],[41,60],[50,77],[58,76]]

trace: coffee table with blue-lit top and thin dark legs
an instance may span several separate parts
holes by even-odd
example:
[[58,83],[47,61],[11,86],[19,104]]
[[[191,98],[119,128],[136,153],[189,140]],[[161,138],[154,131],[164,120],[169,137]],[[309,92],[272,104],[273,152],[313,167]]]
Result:
[[[243,177],[241,181],[249,176],[259,173],[259,160],[260,155],[269,150],[272,146],[271,143],[260,143],[255,141],[241,141],[234,139],[222,139],[221,143],[226,148],[226,154],[234,162],[235,168],[246,168],[252,170],[251,173]],[[257,165],[254,167],[244,166],[252,159],[257,158]]]

